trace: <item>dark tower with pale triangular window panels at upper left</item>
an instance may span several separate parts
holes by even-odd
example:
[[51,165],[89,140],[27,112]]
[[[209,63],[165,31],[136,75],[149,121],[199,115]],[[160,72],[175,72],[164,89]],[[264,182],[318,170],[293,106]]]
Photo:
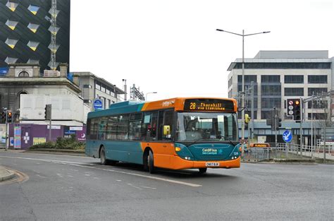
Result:
[[[56,29],[51,29],[51,0],[0,0],[0,74],[10,64],[39,64],[49,68],[51,50],[56,63],[70,62],[70,0],[56,1]],[[56,34],[56,47],[51,44]]]

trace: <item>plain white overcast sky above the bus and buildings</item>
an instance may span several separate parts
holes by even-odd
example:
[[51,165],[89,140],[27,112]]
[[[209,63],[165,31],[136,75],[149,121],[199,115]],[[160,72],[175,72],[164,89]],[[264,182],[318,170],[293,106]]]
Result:
[[[232,61],[259,50],[328,50],[334,56],[332,0],[72,0],[70,71],[90,71],[147,100],[228,97]],[[246,72],[247,74],[247,72]]]

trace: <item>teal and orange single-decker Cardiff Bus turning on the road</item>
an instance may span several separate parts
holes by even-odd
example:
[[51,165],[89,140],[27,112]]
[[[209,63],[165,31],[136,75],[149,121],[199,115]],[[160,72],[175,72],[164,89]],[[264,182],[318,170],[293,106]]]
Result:
[[89,112],[85,153],[101,165],[130,162],[166,169],[240,167],[237,102],[178,97],[125,101]]

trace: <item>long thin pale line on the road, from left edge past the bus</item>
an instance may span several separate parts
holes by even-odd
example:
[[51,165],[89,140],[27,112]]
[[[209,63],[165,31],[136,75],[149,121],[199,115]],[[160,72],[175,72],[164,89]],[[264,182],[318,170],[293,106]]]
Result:
[[116,173],[119,173],[119,174],[128,174],[128,175],[132,175],[132,176],[136,176],[136,177],[144,177],[144,178],[147,178],[147,179],[155,179],[155,180],[159,180],[159,181],[166,181],[166,182],[173,183],[173,184],[181,184],[181,185],[192,186],[192,187],[202,186],[202,185],[199,185],[199,184],[192,184],[192,183],[177,181],[177,180],[173,180],[173,179],[153,177],[153,176],[148,176],[148,175],[143,175],[143,174],[135,174],[135,173],[131,173],[131,172],[123,172],[123,171],[118,171],[118,170],[115,170],[115,169],[104,169],[104,168],[99,168],[99,167],[92,167],[92,166],[96,166],[96,164],[89,164],[89,163],[84,163],[84,162],[70,162],[70,161],[62,161],[62,160],[43,160],[43,159],[36,159],[36,158],[30,158],[30,157],[8,157],[8,156],[0,156],[0,157],[23,159],[23,160],[37,160],[37,161],[42,161],[42,162],[54,162],[54,163],[62,163],[63,162],[65,164],[73,165],[75,167],[85,167],[85,168],[89,168],[89,169],[101,169],[101,170],[104,170],[104,171],[116,172]]

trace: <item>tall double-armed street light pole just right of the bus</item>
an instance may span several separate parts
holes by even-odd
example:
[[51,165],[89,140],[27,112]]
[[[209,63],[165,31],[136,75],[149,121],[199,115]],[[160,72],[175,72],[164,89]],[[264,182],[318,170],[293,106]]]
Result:
[[[219,32],[228,32],[227,30],[221,30],[221,29],[216,29]],[[242,30],[242,34],[237,34],[235,32],[228,32],[233,35],[239,35],[242,37],[242,99],[241,99],[241,105],[242,105],[242,112],[241,112],[241,138],[242,140],[245,139],[245,60],[244,60],[244,38],[245,36],[249,35],[259,35],[259,34],[266,34],[268,32],[257,32],[257,33],[252,33],[252,34],[247,34],[245,35],[245,31]]]

